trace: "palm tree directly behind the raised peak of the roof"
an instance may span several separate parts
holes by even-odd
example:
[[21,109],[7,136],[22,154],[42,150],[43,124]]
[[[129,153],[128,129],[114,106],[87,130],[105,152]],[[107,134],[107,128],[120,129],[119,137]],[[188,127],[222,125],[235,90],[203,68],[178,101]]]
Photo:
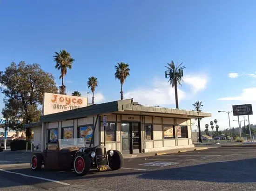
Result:
[[115,65],[115,79],[119,79],[121,83],[121,100],[123,100],[123,83],[125,79],[130,76],[129,64],[123,62],[117,63]]

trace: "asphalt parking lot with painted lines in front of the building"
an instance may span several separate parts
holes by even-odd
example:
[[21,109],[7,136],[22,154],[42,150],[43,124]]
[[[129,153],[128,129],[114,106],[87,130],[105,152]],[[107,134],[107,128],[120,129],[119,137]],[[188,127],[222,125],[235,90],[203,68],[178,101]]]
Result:
[[117,171],[34,172],[0,165],[0,190],[256,190],[256,147],[218,147],[124,159]]

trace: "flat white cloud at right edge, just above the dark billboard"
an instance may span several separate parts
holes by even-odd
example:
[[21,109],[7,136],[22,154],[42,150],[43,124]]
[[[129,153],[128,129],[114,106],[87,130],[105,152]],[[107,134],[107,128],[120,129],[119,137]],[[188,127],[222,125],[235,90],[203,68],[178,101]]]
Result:
[[222,97],[218,100],[221,101],[256,101],[256,88],[246,88],[243,89],[241,96],[230,96],[230,97]]

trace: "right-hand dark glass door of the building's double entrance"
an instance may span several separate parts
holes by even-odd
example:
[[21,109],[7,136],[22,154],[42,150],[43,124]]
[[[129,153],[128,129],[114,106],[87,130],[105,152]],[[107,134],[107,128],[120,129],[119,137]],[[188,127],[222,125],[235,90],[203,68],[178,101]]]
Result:
[[131,123],[132,134],[132,153],[140,153],[141,148],[141,130],[139,123]]

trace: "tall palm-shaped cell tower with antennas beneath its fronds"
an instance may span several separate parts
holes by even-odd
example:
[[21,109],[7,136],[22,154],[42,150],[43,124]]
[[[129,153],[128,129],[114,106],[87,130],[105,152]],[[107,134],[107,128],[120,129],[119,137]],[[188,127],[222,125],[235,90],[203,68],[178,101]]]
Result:
[[182,85],[181,81],[182,81],[182,76],[183,76],[183,69],[185,68],[185,66],[182,66],[182,63],[179,65],[177,64],[175,66],[173,61],[171,62],[171,64],[169,64],[169,63],[167,63],[167,64],[168,64],[168,66],[165,66],[165,67],[168,70],[165,71],[165,77],[167,78],[167,75],[169,75],[168,82],[170,82],[170,84],[172,84],[172,87],[175,87],[176,108],[179,108],[177,83]]

